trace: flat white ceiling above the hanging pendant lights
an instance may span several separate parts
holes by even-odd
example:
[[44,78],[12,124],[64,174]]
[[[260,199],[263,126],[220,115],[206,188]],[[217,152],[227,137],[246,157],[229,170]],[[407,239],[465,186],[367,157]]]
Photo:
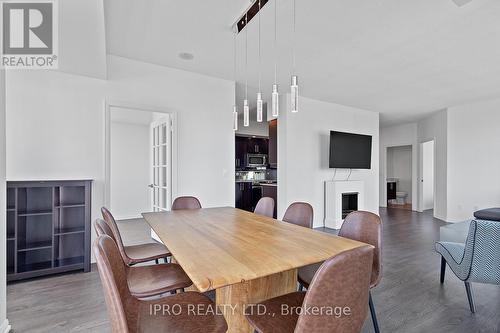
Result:
[[[291,3],[261,11],[262,91],[289,88]],[[233,79],[231,25],[247,0],[105,0],[107,52]],[[449,106],[500,96],[500,1],[296,0],[296,72],[301,95],[381,113],[381,123],[417,120]],[[248,26],[248,84],[258,87],[257,20]],[[245,82],[245,31],[237,38],[237,81]],[[192,53],[194,59],[178,55]]]

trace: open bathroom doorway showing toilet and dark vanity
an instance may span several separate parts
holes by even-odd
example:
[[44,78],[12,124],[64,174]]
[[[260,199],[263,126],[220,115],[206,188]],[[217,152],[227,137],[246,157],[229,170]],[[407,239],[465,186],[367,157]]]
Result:
[[387,147],[387,207],[412,210],[413,146]]

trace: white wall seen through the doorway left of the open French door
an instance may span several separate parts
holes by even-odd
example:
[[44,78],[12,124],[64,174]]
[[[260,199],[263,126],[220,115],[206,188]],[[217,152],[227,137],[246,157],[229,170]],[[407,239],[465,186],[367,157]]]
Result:
[[149,124],[112,121],[110,127],[110,209],[119,220],[138,218],[151,210]]

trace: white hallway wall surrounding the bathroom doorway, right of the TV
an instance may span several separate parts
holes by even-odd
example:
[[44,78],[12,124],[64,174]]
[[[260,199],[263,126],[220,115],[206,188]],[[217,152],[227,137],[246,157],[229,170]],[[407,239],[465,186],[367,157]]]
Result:
[[[408,123],[398,126],[383,127],[380,129],[380,207],[387,207],[387,183],[390,166],[386,165],[389,147],[412,146],[412,186],[411,197],[417,198],[417,178],[418,178],[418,144],[417,144],[417,124]],[[412,209],[416,209],[416,202],[413,200]]]

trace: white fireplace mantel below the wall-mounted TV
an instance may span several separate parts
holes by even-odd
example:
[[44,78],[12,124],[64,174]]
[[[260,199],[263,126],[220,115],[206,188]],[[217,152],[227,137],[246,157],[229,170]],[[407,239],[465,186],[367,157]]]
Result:
[[365,183],[361,180],[330,180],[325,182],[325,227],[340,229],[342,194],[358,193],[358,210],[365,208]]

